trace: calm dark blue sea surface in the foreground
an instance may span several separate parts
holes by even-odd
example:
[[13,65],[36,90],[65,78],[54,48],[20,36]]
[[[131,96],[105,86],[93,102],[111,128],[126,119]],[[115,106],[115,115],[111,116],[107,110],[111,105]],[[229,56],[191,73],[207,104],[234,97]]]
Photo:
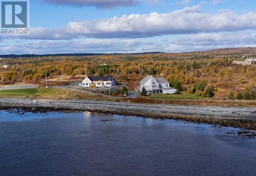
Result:
[[0,175],[256,175],[241,129],[90,112],[0,111]]

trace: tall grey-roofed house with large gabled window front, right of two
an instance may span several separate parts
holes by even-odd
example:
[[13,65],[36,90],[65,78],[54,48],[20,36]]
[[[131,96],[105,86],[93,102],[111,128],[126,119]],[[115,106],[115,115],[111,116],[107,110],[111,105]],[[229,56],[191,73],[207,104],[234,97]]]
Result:
[[166,79],[151,75],[147,75],[140,81],[140,86],[137,88],[137,91],[141,92],[143,87],[148,94],[174,94],[177,91],[176,89],[172,89],[170,83]]

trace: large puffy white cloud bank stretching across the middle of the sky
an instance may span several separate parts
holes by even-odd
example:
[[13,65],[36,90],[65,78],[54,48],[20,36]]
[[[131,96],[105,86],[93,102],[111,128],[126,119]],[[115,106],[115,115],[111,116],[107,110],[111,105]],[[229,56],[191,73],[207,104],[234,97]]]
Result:
[[202,13],[201,6],[185,7],[170,13],[131,14],[121,17],[71,21],[65,28],[31,30],[31,39],[141,38],[169,34],[192,34],[256,29],[256,13],[238,14],[220,10]]

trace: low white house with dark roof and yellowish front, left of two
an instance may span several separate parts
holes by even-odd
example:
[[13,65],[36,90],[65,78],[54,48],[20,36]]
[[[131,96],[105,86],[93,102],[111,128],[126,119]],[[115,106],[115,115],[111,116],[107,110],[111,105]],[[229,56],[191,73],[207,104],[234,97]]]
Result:
[[87,76],[82,81],[83,87],[110,87],[115,85],[112,76]]

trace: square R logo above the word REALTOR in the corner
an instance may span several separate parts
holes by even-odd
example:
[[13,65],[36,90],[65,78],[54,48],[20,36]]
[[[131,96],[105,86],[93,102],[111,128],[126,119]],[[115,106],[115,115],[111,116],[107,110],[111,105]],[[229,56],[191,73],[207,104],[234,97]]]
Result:
[[28,27],[27,1],[2,1],[1,3],[2,28]]

